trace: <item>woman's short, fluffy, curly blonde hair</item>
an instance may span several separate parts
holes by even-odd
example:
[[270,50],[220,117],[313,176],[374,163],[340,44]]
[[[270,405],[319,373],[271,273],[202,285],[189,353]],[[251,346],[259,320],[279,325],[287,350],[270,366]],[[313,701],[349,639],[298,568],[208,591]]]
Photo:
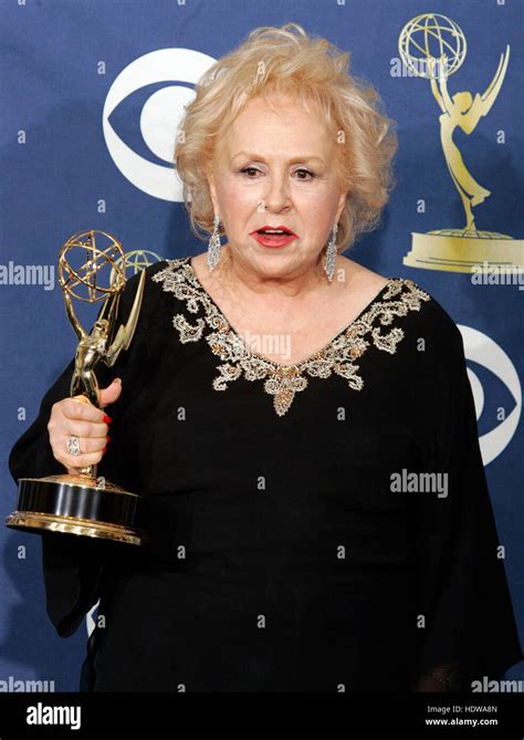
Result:
[[[339,144],[337,176],[348,195],[338,221],[338,252],[378,226],[395,185],[396,124],[384,113],[378,92],[349,74],[349,55],[297,23],[261,27],[200,77],[175,147],[185,206],[198,238],[208,239],[213,228],[207,176],[220,136],[251,97],[270,103],[271,94],[291,96],[310,113],[313,105]],[[223,234],[222,225],[220,229]]]

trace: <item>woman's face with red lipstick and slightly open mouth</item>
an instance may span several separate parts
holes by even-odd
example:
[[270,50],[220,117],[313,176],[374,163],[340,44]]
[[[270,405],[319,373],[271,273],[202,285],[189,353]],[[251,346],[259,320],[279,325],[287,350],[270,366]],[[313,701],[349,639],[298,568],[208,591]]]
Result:
[[[251,98],[220,139],[209,177],[233,259],[261,277],[297,275],[317,262],[346,192],[336,178],[336,140],[289,97]],[[252,232],[285,226],[297,236],[265,247]]]

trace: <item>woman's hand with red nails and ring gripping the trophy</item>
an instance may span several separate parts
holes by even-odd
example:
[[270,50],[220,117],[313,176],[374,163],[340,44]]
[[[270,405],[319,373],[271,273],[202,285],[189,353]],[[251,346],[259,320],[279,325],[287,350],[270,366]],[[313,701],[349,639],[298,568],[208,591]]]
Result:
[[[104,408],[117,400],[122,393],[122,381],[115,378],[107,388],[101,388],[99,406]],[[81,468],[96,465],[102,460],[106,444],[111,418],[83,395],[63,398],[51,407],[48,423],[49,440],[54,458],[61,462],[70,475],[77,475]],[[67,451],[67,439],[76,435],[82,455]]]

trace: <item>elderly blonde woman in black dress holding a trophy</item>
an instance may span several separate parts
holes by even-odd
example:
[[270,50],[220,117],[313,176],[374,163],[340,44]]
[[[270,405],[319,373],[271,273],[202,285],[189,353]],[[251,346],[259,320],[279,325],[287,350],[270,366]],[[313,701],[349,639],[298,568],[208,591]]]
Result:
[[196,86],[176,165],[207,254],[146,269],[104,410],[70,363],[10,457],[146,502],[149,548],[42,536],[57,633],[99,600],[82,689],[468,691],[522,657],[461,335],[342,254],[395,149],[348,54],[293,23]]

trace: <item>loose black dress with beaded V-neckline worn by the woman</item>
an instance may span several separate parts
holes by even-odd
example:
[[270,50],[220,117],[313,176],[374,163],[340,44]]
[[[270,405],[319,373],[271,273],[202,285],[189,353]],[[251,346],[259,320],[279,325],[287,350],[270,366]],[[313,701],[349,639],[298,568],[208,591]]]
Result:
[[[101,386],[123,378],[98,475],[145,497],[150,546],[42,535],[57,633],[101,600],[82,689],[407,691],[442,665],[464,691],[500,677],[522,652],[452,320],[391,278],[317,355],[262,355],[189,257],[147,268],[133,343],[97,371]],[[65,471],[46,423],[72,371],[14,445],[14,479]]]

